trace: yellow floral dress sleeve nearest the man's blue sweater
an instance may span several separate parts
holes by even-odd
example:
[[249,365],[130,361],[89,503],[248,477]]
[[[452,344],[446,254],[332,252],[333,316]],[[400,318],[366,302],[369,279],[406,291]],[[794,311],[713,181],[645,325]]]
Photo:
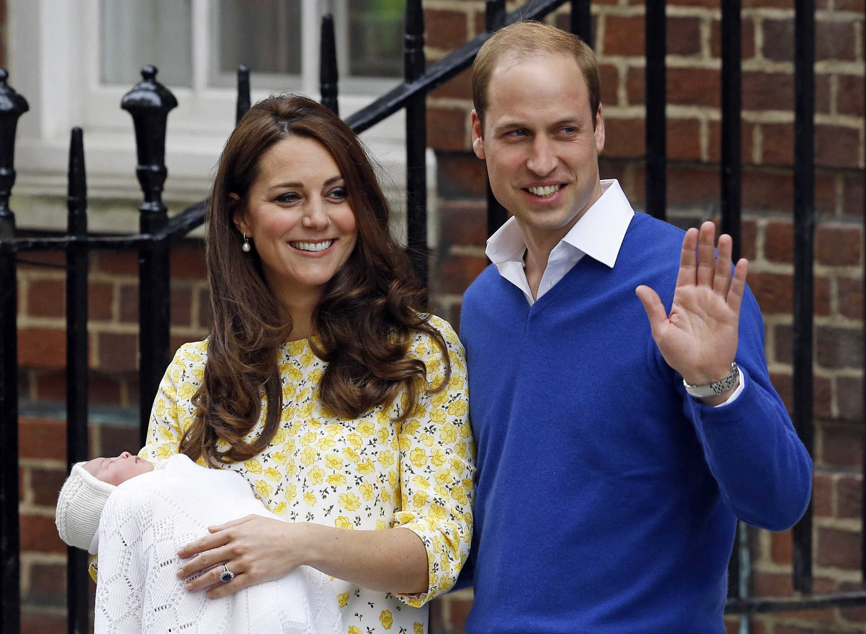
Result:
[[[450,379],[441,391],[419,399],[416,416],[399,432],[402,510],[394,527],[409,528],[427,549],[430,583],[421,594],[396,594],[420,607],[448,592],[469,554],[472,541],[475,443],[469,426],[466,356],[447,321],[430,318],[448,346]],[[413,356],[427,366],[428,385],[442,385],[445,365],[439,347],[419,335]]]

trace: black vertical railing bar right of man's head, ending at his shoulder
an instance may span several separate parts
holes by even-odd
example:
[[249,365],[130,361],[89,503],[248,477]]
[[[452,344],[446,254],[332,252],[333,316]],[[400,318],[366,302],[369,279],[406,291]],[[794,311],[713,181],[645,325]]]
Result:
[[665,106],[668,101],[664,56],[667,21],[664,0],[646,0],[646,211],[664,220],[668,206],[668,139]]

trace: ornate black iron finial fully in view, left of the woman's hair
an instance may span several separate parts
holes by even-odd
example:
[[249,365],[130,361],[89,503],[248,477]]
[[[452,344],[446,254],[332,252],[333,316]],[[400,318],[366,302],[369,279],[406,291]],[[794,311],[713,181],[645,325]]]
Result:
[[[156,81],[157,69],[147,65],[141,69],[142,81],[124,95],[120,107],[132,114],[139,165],[136,174],[145,203],[139,207],[142,215],[165,214],[162,189],[168,171],[165,169],[165,123],[168,113],[178,106],[171,91]],[[142,223],[145,218],[142,217]],[[142,227],[142,230],[145,230]]]

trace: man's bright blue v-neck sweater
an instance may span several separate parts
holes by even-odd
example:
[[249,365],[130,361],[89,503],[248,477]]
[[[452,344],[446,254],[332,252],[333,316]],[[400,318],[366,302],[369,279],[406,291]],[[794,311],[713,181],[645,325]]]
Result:
[[731,404],[688,397],[652,339],[635,288],[670,307],[682,236],[637,213],[616,266],[585,256],[532,307],[493,266],[466,292],[470,634],[721,634],[736,517],[783,530],[804,512],[811,460],[751,292]]

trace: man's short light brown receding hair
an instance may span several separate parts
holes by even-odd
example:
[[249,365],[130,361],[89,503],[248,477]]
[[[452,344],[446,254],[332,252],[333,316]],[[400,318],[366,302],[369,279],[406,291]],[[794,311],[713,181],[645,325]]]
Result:
[[601,81],[598,62],[592,49],[578,36],[540,22],[517,22],[499,29],[478,51],[472,65],[472,100],[484,131],[484,113],[488,108],[488,87],[496,66],[506,55],[517,60],[536,55],[569,55],[578,62],[589,92],[592,129],[595,113],[601,103]]

